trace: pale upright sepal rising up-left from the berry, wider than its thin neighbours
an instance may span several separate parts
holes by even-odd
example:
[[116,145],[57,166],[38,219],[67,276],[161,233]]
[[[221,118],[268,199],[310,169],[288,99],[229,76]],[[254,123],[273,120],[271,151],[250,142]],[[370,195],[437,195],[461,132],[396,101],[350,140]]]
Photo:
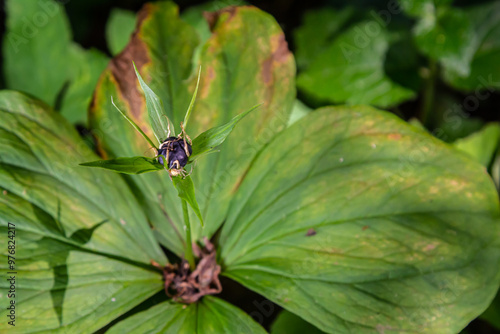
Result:
[[149,121],[151,122],[153,133],[155,134],[158,142],[161,144],[168,137],[175,136],[174,124],[165,114],[165,111],[163,110],[162,100],[151,90],[151,88],[149,88],[144,80],[142,80],[139,71],[137,71],[137,67],[135,66],[135,64],[133,65],[135,74],[139,79],[142,91],[144,92],[144,96],[146,97],[146,107],[148,109]]

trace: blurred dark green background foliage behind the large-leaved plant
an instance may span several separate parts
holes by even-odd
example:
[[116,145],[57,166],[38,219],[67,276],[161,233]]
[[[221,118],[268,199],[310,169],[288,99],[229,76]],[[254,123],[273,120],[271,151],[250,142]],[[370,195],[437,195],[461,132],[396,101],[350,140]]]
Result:
[[[67,19],[51,21],[54,38],[33,42],[36,45],[30,54],[24,53],[22,61],[6,49],[8,23],[5,4],[0,2],[0,36],[4,39],[0,88],[28,91],[85,133],[86,114],[81,111],[87,109],[110,57],[128,42],[135,12],[145,2],[60,1]],[[208,36],[209,28],[200,20],[200,12],[244,4],[238,0],[176,3],[183,18],[202,37],[204,31]],[[324,105],[374,105],[453,143],[481,162],[498,186],[500,1],[246,3],[276,18],[294,52],[298,100],[290,122]],[[14,7],[10,10],[24,10]],[[47,62],[37,67],[44,54]],[[48,84],[40,79],[46,77],[50,78]],[[483,316],[486,320],[474,321],[465,332],[500,333],[495,329],[500,328],[498,299]]]

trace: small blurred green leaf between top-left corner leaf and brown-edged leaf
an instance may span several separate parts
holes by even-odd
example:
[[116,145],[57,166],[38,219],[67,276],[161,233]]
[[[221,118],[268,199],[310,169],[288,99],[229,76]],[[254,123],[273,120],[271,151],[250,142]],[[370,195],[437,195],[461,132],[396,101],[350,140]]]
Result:
[[61,114],[73,124],[87,124],[87,110],[97,80],[106,68],[109,58],[98,50],[71,47],[71,78],[61,102]]

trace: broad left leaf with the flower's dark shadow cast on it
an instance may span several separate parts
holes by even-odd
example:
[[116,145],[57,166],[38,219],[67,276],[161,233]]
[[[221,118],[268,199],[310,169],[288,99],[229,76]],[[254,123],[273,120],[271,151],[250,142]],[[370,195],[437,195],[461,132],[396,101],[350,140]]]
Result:
[[16,329],[93,332],[160,291],[150,262],[167,259],[123,179],[78,167],[97,156],[44,103],[2,91],[0,119],[0,230],[15,224]]

